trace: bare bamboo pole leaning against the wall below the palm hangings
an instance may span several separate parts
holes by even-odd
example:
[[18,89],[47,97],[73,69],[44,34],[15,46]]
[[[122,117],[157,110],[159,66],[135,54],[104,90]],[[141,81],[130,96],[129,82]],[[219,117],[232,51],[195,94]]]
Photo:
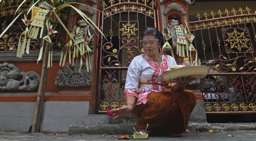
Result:
[[48,49],[49,49],[49,42],[46,41],[41,79],[40,79],[40,84],[39,84],[39,88],[38,88],[38,92],[37,92],[37,104],[36,104],[35,115],[34,115],[31,133],[36,133],[36,129],[37,129],[37,118],[38,118],[39,108],[41,105],[40,103],[41,103],[41,98],[42,98],[42,90],[43,90],[44,80],[45,80],[45,75],[46,75],[46,67],[47,67],[46,66],[47,65],[47,57],[46,56],[48,54]]

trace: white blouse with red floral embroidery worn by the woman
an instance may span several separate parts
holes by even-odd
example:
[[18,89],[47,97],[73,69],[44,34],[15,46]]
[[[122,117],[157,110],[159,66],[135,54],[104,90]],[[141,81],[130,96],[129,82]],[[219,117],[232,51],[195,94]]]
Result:
[[[176,65],[176,62],[174,58],[169,55],[162,55],[161,67],[159,67],[152,58],[147,56],[146,53],[135,57],[128,67],[124,98],[127,96],[135,96],[136,106],[141,103],[146,104],[146,97],[151,91],[166,91],[165,84],[167,84],[167,82],[161,75],[165,71],[170,70],[171,65]],[[145,84],[138,88],[139,83],[150,84]],[[174,84],[175,83],[172,83],[172,87]]]

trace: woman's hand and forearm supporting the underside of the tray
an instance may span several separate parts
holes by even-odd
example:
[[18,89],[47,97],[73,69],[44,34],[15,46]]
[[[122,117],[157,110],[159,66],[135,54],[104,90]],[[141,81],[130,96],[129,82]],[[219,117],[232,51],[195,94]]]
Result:
[[176,84],[174,85],[173,90],[174,90],[174,91],[183,91],[183,90],[185,89],[185,86],[186,86],[188,83],[190,83],[190,82],[192,82],[192,81],[194,81],[194,80],[197,80],[197,78],[192,78],[192,76],[190,76],[190,77],[184,76],[183,79],[182,79],[181,77],[179,77],[179,78],[177,78],[176,80],[178,81],[178,83],[176,83]]

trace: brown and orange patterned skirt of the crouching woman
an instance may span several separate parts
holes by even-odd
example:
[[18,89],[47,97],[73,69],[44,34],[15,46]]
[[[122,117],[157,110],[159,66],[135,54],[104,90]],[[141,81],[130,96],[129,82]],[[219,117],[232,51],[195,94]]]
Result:
[[137,105],[132,113],[139,117],[137,129],[164,130],[170,137],[187,129],[189,116],[196,105],[196,97],[189,91],[151,92],[146,104]]

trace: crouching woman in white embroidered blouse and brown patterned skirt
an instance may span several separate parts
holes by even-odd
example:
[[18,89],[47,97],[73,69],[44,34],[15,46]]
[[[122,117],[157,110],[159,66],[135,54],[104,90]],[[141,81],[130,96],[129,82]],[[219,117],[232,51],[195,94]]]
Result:
[[[134,113],[139,117],[137,129],[165,133],[170,137],[186,131],[189,116],[196,104],[192,92],[184,91],[185,86],[196,78],[178,78],[166,91],[167,82],[161,78],[164,72],[176,65],[174,58],[159,52],[163,34],[154,27],[148,27],[141,35],[141,46],[145,53],[135,57],[127,71],[125,84],[126,106],[113,109],[119,117]],[[167,133],[167,134],[166,134]],[[150,135],[150,134],[149,134]]]

